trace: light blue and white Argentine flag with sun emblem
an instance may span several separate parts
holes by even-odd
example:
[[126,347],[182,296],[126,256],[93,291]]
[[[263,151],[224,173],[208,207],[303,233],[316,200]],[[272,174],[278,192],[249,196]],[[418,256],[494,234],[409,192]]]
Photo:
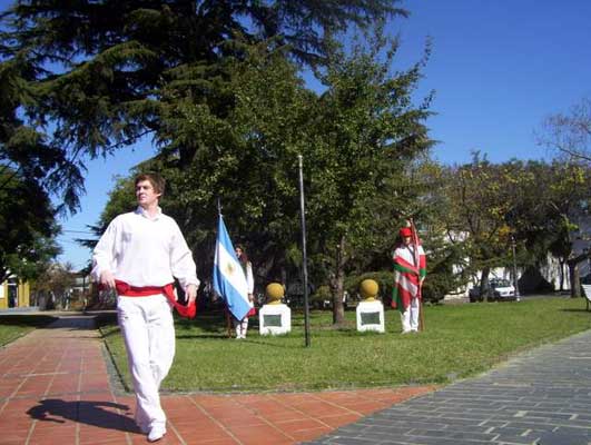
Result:
[[221,215],[217,224],[216,256],[214,259],[214,290],[226,301],[228,310],[242,320],[253,307],[248,301],[246,275],[236,258],[234,246]]

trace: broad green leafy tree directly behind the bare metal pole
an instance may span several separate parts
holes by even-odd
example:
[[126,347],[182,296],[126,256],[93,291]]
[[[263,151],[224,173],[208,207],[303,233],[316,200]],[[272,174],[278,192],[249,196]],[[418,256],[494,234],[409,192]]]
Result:
[[[371,264],[376,251],[387,258],[398,209],[418,195],[407,169],[431,145],[422,123],[430,98],[418,108],[410,100],[423,61],[391,73],[391,59],[376,61],[383,41],[375,44],[374,52],[348,58],[335,52],[322,95],[304,88],[282,51],[255,47],[229,70],[235,105],[224,119],[179,102],[170,131],[184,146],[200,128],[196,157],[180,169],[177,151],[164,150],[149,166],[169,181],[162,206],[186,233],[200,276],[210,273],[217,197],[235,239],[254,246],[255,265],[273,278],[297,271],[298,154],[305,159],[316,284],[329,280],[342,304],[344,274]],[[343,310],[335,306],[338,324]]]

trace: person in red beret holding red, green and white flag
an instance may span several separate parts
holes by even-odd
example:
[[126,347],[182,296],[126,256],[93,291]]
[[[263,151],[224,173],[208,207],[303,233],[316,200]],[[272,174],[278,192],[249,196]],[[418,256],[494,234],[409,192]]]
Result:
[[426,257],[414,227],[400,229],[401,241],[394,250],[392,307],[401,312],[402,333],[418,332],[421,288],[426,276]]

